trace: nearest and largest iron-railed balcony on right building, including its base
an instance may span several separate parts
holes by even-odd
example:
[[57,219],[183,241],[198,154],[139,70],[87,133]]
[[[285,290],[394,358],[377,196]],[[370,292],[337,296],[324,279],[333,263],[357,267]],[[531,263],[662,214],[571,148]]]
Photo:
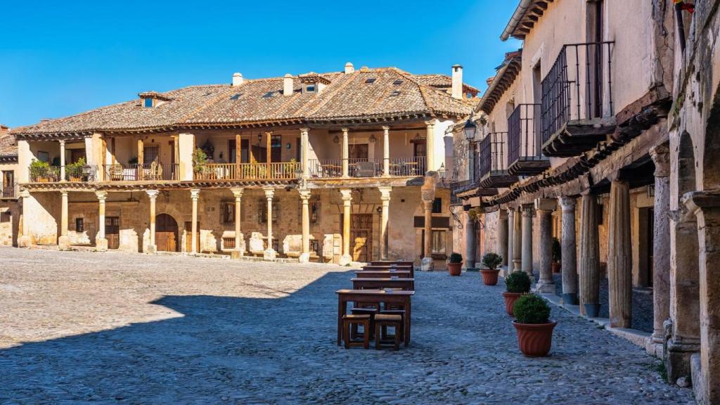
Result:
[[614,132],[613,45],[580,43],[564,45],[560,50],[541,82],[544,156],[580,155]]

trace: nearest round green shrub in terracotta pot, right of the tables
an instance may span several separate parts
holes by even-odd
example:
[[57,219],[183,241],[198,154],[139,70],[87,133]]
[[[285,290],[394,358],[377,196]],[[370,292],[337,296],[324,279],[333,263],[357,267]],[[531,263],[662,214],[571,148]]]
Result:
[[513,307],[518,345],[527,357],[546,356],[552,346],[552,330],[557,321],[550,320],[550,307],[538,295],[523,295]]

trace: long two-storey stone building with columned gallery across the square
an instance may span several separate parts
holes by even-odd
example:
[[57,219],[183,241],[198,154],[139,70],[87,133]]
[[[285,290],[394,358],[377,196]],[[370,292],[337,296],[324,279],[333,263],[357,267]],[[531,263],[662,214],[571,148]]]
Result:
[[348,63],[235,74],[14,128],[19,241],[442,267],[444,134],[476,95],[461,66],[445,76]]

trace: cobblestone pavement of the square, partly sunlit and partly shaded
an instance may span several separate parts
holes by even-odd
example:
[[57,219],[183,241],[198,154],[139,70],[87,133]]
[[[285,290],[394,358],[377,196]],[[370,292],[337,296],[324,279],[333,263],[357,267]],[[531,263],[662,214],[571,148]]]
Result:
[[[559,308],[517,348],[503,286],[420,273],[413,343],[335,344],[347,269],[0,249],[0,404],[690,404],[639,347]],[[502,282],[501,282],[502,283]]]

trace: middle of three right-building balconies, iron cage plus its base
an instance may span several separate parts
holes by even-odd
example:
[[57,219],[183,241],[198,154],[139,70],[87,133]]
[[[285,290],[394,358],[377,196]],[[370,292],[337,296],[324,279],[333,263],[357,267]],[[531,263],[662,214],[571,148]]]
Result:
[[534,176],[550,167],[540,151],[540,104],[518,104],[508,118],[508,173]]

